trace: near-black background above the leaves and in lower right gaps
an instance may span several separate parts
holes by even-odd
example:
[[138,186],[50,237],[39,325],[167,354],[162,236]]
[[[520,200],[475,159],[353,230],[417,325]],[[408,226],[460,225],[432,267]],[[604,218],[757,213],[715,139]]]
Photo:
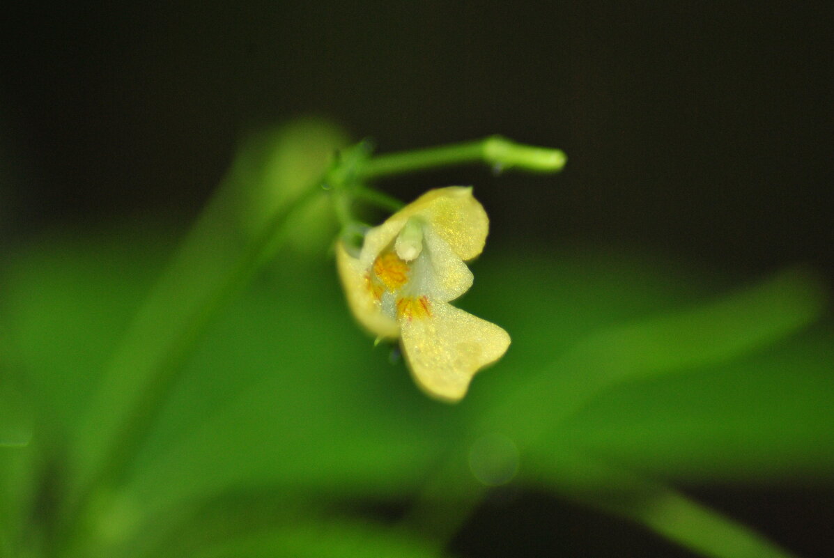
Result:
[[[624,244],[741,274],[805,262],[834,278],[831,2],[4,12],[0,216],[12,238],[121,219],[183,226],[241,138],[315,113],[381,151],[490,133],[564,148],[557,178],[465,168],[384,184],[409,199],[475,183],[504,239]],[[734,490],[702,497],[792,550],[831,546],[821,495]],[[632,545],[671,555],[666,543],[641,542],[651,535],[564,504],[513,501],[486,506],[487,528],[470,527],[459,544],[494,548],[487,535],[504,514],[571,522],[580,531],[566,539],[571,553]],[[595,540],[600,530],[613,538]],[[541,525],[516,529],[508,548],[534,531]],[[599,548],[583,550],[588,540]]]

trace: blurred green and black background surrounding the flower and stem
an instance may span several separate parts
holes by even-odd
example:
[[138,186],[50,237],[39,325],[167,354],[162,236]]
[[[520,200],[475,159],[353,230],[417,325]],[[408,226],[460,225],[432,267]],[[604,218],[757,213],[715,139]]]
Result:
[[[14,8],[0,555],[763,555],[713,513],[831,552],[830,21],[823,3]],[[324,192],[179,336],[334,148],[496,132],[568,167],[379,183],[475,184],[490,213],[457,304],[513,344],[460,405],[354,326]]]

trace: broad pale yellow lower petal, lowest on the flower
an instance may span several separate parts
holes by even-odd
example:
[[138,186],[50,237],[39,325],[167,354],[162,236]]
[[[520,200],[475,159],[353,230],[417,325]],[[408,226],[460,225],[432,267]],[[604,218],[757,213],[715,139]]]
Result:
[[428,316],[400,319],[400,326],[414,380],[429,395],[450,402],[463,398],[475,373],[510,346],[504,329],[445,302],[433,301]]

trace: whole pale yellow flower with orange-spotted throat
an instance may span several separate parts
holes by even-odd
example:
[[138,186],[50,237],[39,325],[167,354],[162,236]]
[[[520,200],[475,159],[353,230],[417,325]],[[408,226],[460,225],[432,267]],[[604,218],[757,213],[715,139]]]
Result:
[[504,329],[449,304],[472,286],[464,262],[484,249],[489,225],[472,189],[452,186],[370,229],[358,254],[336,248],[356,319],[378,338],[399,337],[414,380],[440,400],[460,400],[510,345]]

